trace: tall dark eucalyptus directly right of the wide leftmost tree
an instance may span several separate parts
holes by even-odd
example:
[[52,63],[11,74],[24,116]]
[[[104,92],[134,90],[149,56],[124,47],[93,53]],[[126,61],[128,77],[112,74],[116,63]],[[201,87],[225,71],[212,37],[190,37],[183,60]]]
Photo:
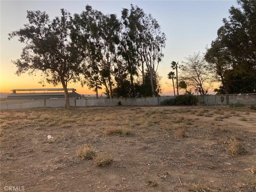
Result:
[[80,15],[74,14],[72,24],[72,40],[85,58],[84,74],[88,74],[88,70],[99,74],[107,96],[113,98],[112,74],[118,63],[119,20],[114,14],[104,15],[87,5]]

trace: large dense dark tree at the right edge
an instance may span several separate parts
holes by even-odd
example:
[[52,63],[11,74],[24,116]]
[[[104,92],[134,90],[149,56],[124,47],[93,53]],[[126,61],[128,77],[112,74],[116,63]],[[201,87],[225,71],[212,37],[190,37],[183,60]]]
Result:
[[238,0],[207,49],[206,60],[227,93],[250,93],[256,88],[256,1]]

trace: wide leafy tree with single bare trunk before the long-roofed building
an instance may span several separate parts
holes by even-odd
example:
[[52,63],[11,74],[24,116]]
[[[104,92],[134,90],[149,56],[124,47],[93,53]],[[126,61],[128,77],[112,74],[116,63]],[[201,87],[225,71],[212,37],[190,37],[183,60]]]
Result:
[[70,14],[61,9],[61,16],[50,20],[46,12],[27,11],[29,24],[11,32],[25,43],[20,59],[12,61],[17,66],[16,74],[42,72],[43,81],[54,86],[62,84],[65,93],[65,108],[70,109],[68,82],[79,79],[81,56],[72,42],[69,30]]

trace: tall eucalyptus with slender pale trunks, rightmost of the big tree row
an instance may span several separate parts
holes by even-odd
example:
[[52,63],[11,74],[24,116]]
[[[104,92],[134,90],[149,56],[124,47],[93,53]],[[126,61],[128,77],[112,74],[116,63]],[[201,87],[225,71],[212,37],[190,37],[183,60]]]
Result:
[[165,47],[166,37],[161,32],[160,25],[152,17],[146,14],[138,6],[131,5],[130,12],[127,9],[122,11],[124,24],[130,28],[130,40],[136,49],[136,56],[139,56],[142,68],[142,80],[145,83],[144,65],[150,76],[150,85],[152,96],[154,97],[154,76],[156,75],[158,64],[161,62],[164,54],[162,49]]

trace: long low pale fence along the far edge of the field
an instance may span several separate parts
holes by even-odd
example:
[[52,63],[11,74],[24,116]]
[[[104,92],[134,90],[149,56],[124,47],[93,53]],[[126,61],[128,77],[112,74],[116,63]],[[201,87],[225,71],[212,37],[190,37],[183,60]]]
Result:
[[[87,106],[143,106],[143,105],[160,105],[166,99],[174,98],[173,96],[164,97],[148,97],[148,98],[81,98],[70,99],[71,107],[87,107]],[[198,96],[198,105],[206,106],[226,106],[232,107],[235,104],[256,105],[256,94],[230,94],[230,95],[206,95]],[[34,102],[22,102],[18,104],[1,104],[0,109],[26,109],[26,108],[63,108],[65,106],[64,99],[57,100],[39,100]]]

